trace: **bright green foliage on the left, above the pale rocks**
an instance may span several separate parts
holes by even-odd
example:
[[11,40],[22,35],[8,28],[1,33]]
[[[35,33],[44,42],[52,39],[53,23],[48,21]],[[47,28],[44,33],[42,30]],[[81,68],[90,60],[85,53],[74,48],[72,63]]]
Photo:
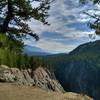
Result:
[[33,70],[42,65],[41,58],[22,54],[23,46],[22,42],[0,34],[0,64],[20,69],[31,68]]

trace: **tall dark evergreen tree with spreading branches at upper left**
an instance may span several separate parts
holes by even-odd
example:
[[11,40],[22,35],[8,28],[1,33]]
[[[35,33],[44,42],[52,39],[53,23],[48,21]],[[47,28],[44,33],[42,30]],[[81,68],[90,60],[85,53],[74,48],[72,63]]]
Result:
[[[33,8],[34,1],[40,2],[40,6]],[[34,18],[48,24],[46,18],[51,2],[51,0],[0,0],[0,33],[7,33],[10,37],[29,34],[38,40],[38,35],[32,33],[27,21]]]

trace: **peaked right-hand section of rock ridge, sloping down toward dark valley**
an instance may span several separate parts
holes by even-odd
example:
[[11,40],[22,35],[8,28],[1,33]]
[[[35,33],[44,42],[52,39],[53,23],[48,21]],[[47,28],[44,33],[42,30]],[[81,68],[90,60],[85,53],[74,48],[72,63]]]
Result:
[[[49,72],[49,71],[48,71]],[[53,91],[63,91],[63,88],[59,84],[59,82],[55,79],[52,79],[52,75],[50,75],[42,68],[39,67],[34,71],[34,82],[35,85],[44,89],[50,89]]]

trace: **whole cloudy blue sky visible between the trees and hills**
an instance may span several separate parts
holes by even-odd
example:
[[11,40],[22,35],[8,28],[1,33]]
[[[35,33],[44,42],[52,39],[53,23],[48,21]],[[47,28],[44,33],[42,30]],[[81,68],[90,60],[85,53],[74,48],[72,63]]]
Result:
[[[35,7],[38,5],[38,2],[33,3]],[[92,9],[95,8],[99,8],[99,5],[94,6],[91,2],[83,5],[79,3],[79,0],[55,0],[51,3],[50,16],[47,19],[50,26],[31,20],[29,25],[39,35],[40,40],[36,42],[29,37],[25,44],[39,47],[44,52],[68,53],[80,44],[100,39],[94,34],[94,30],[88,27],[88,23],[94,19],[83,13],[88,11],[92,14]],[[91,40],[89,34],[94,34],[96,38]]]

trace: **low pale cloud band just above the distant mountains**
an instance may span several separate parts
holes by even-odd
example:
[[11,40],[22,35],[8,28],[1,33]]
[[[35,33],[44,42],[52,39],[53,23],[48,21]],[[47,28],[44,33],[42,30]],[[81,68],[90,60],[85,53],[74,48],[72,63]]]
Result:
[[67,53],[76,47],[76,45],[63,44],[60,42],[46,39],[41,39],[39,42],[34,43],[33,46],[40,47],[44,51],[52,53],[59,53],[62,51]]

